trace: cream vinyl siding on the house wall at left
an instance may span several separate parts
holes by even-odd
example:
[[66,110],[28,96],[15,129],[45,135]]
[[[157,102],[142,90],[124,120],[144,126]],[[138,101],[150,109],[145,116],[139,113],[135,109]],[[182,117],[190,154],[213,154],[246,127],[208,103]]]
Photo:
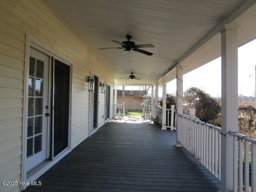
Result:
[[[72,148],[88,137],[86,76],[91,70],[102,81],[113,82],[113,76],[41,0],[1,0],[0,26],[0,180],[21,180],[26,34],[74,62]],[[100,126],[104,102],[100,95]],[[1,192],[19,190],[0,185]]]

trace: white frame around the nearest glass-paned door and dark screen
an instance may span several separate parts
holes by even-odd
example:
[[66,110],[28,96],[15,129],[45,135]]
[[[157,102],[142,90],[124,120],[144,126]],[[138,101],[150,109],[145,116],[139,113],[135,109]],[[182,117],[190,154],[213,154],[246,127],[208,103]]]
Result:
[[[30,176],[30,178],[27,178],[26,173],[26,148],[27,148],[27,117],[28,117],[28,76],[29,76],[29,59],[30,59],[30,47],[35,48],[36,50],[43,52],[44,54],[48,55],[50,58],[50,64],[51,60],[53,58],[56,58],[57,60],[67,64],[70,66],[70,100],[69,100],[69,130],[68,130],[68,148],[66,150],[63,150],[58,157],[56,157],[54,160],[49,160],[49,162],[43,163],[43,166],[40,168],[35,168],[35,172]],[[50,68],[49,68],[50,70]],[[23,96],[23,123],[22,123],[22,169],[21,169],[21,180],[24,182],[29,182],[32,180],[36,180],[38,177],[40,177],[44,172],[46,172],[50,167],[52,167],[56,162],[58,162],[61,158],[63,158],[66,154],[68,154],[71,151],[71,136],[72,136],[72,90],[73,90],[73,81],[72,81],[72,75],[73,75],[73,62],[69,60],[68,58],[65,58],[58,52],[52,50],[42,42],[38,41],[36,38],[26,34],[26,49],[25,49],[25,70],[24,70],[24,96]],[[49,84],[52,81],[51,75],[49,74]],[[50,90],[50,89],[49,89]],[[48,125],[50,124],[50,121],[48,121]],[[48,136],[50,137],[50,127],[48,127]],[[48,144],[47,147],[50,147],[50,144]],[[47,161],[47,160],[46,160]],[[37,169],[37,170],[36,170]],[[24,190],[27,186],[21,186],[21,190]]]

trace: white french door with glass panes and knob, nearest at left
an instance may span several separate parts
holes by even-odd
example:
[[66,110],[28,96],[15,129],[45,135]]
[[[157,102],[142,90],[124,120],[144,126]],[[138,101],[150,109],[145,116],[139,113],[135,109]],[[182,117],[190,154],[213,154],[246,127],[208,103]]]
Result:
[[48,120],[50,109],[49,93],[50,57],[30,48],[27,106],[27,160],[28,172],[47,157]]

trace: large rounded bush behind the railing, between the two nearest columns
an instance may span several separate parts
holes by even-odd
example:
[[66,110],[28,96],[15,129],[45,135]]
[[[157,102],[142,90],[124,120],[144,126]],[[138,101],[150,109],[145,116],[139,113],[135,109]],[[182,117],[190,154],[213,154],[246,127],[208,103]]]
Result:
[[214,98],[203,90],[191,87],[184,92],[183,113],[188,114],[188,109],[196,109],[196,117],[203,122],[220,126],[220,99]]

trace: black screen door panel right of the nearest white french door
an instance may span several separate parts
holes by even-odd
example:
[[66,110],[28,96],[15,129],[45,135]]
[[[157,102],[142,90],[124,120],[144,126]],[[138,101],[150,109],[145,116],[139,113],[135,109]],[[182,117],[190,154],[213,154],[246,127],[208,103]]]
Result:
[[68,147],[70,66],[54,62],[54,157]]

